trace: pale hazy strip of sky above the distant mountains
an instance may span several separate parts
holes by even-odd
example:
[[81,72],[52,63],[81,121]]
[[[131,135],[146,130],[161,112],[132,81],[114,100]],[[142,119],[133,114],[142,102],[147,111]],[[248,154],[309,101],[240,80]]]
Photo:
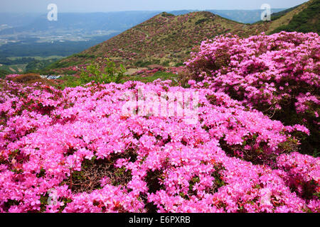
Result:
[[272,8],[289,8],[307,0],[0,0],[1,12],[48,12],[50,3],[60,12],[107,12],[177,9],[260,9],[262,4]]

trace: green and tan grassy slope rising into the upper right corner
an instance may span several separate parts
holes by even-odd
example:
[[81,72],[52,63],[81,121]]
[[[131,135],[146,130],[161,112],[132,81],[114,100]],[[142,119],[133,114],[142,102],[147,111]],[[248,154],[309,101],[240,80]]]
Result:
[[311,0],[287,11],[274,13],[267,33],[279,33],[280,31],[319,33],[319,13],[320,0]]

